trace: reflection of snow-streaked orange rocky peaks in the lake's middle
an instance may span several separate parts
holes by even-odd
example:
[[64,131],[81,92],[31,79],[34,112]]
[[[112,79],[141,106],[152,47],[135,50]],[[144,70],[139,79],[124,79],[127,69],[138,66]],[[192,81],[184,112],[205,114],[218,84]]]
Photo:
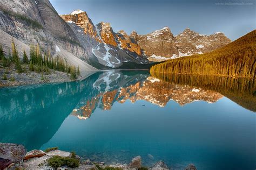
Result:
[[222,97],[211,90],[168,83],[151,76],[147,78],[143,76],[140,79],[133,77],[134,81],[131,77],[129,77],[130,81],[124,81],[122,77],[119,73],[111,74],[111,72],[100,75],[93,83],[93,89],[99,90],[99,94],[87,98],[85,104],[74,109],[71,115],[79,119],[87,119],[96,108],[110,110],[114,102],[124,103],[126,100],[132,103],[144,100],[164,107],[170,100],[185,105],[199,100],[214,103]]

